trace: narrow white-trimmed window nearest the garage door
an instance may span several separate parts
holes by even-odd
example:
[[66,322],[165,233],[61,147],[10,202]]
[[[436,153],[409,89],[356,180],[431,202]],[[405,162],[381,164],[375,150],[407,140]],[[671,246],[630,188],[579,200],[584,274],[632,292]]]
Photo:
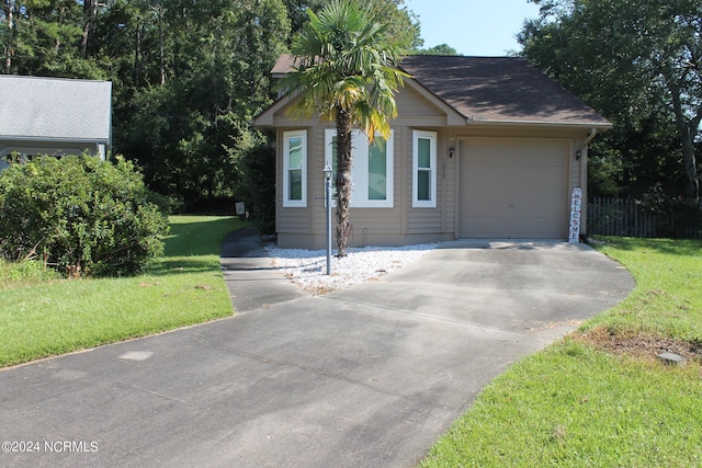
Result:
[[412,133],[412,207],[437,207],[437,133]]

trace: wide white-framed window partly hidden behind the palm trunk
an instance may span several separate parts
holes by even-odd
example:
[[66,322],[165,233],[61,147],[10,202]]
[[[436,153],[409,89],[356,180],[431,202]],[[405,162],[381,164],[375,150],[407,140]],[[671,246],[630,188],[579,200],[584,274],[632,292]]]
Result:
[[[365,208],[392,208],[393,191],[393,130],[389,138],[381,135],[369,144],[367,137],[360,130],[351,132],[351,206]],[[325,130],[325,164],[337,173],[337,130]],[[336,197],[336,187],[335,194]]]

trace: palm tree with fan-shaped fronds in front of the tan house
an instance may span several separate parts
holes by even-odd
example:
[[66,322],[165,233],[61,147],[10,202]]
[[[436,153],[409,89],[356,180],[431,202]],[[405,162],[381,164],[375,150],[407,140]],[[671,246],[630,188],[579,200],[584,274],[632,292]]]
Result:
[[374,18],[359,0],[333,0],[295,35],[291,52],[295,69],[281,82],[287,93],[302,93],[291,109],[298,116],[318,114],[337,126],[337,246],[346,255],[351,201],[351,130],[359,127],[372,142],[376,133],[389,137],[397,115],[395,91],[407,73],[398,64],[401,49],[389,24]]

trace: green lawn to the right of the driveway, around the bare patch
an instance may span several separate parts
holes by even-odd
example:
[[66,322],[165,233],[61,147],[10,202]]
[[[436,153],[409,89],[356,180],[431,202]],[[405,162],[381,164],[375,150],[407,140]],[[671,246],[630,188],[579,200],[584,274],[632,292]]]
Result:
[[[634,293],[585,323],[612,339],[702,341],[702,241],[602,239]],[[423,467],[702,466],[702,368],[566,338],[511,366],[432,447]]]

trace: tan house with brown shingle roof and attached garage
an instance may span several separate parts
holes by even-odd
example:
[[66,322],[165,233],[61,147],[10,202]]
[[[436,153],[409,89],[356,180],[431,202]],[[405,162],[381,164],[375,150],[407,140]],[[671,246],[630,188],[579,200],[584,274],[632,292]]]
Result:
[[[523,58],[409,56],[400,68],[412,78],[396,94],[392,137],[370,148],[354,135],[350,246],[565,240],[574,187],[587,213],[588,142],[612,125]],[[272,75],[291,70],[285,55]],[[253,123],[276,139],[279,244],[321,249],[335,124],[292,118],[293,101]]]

